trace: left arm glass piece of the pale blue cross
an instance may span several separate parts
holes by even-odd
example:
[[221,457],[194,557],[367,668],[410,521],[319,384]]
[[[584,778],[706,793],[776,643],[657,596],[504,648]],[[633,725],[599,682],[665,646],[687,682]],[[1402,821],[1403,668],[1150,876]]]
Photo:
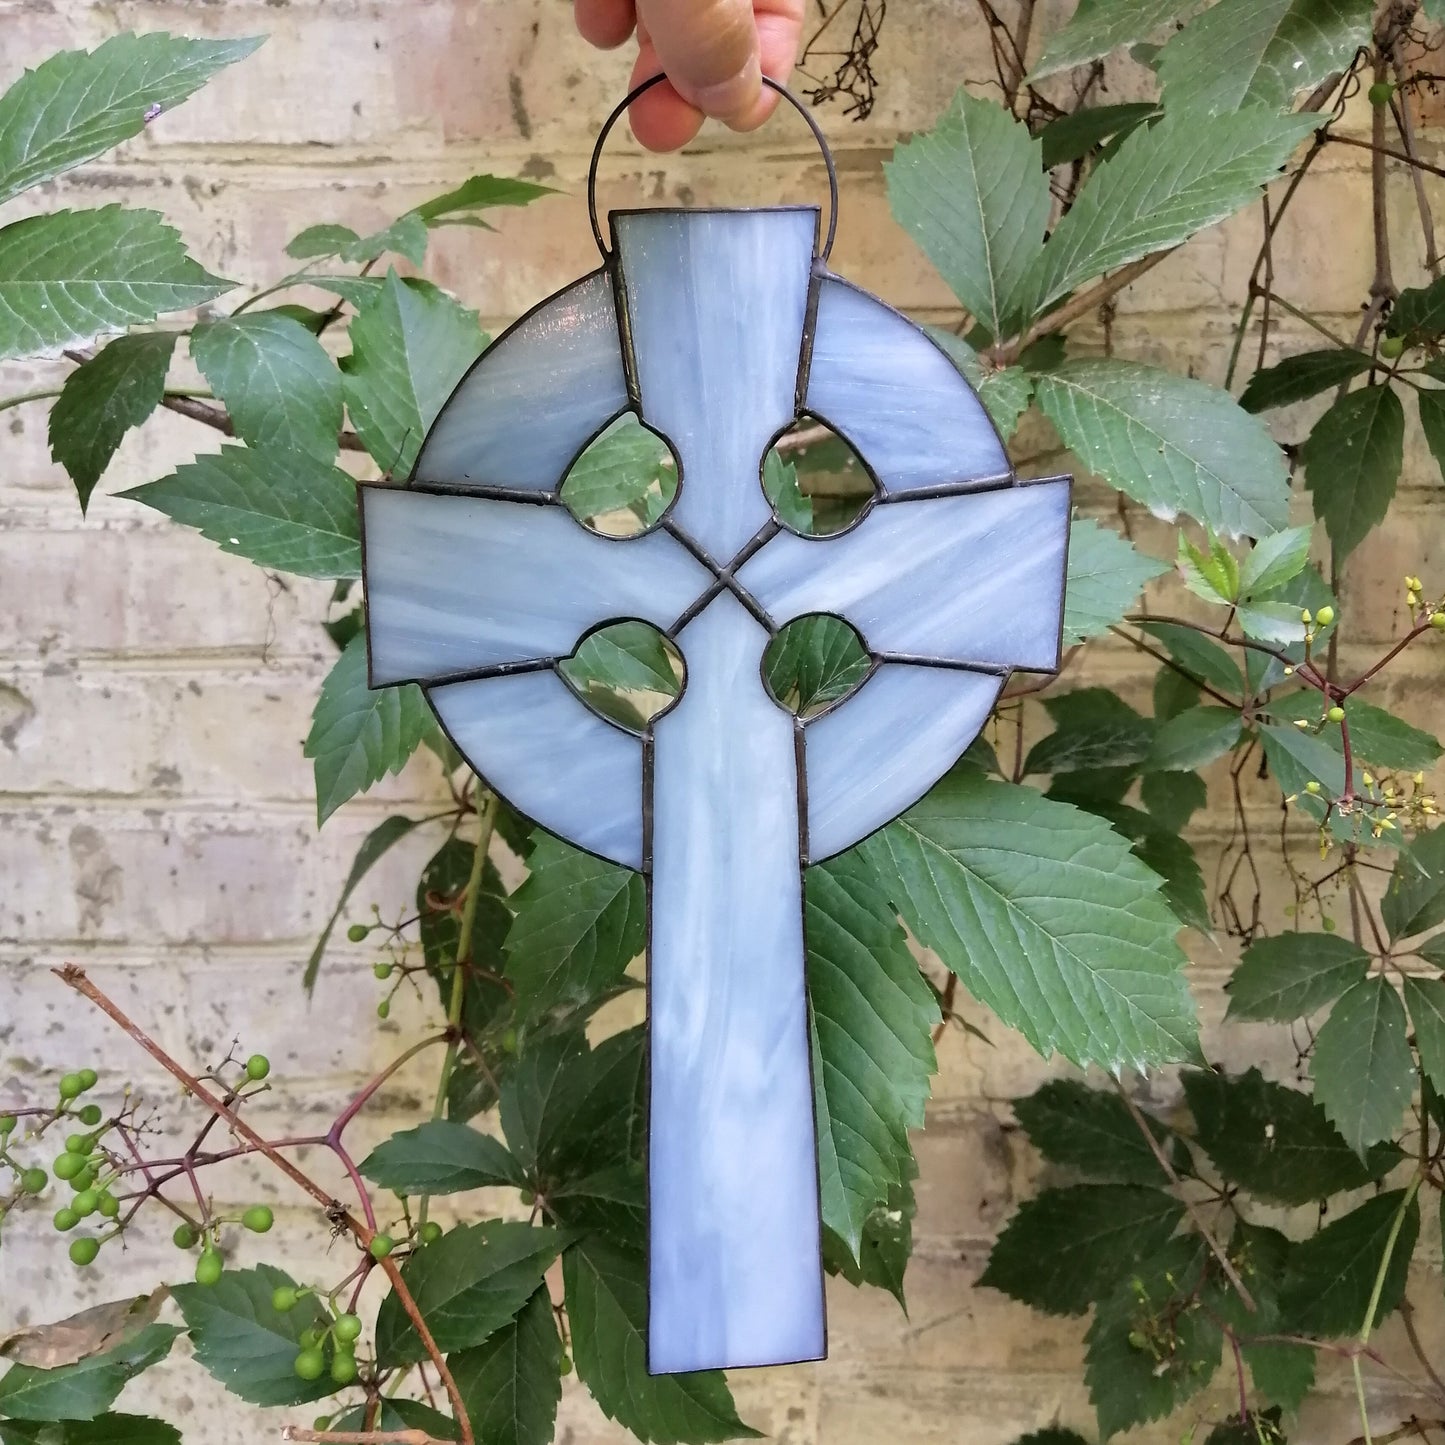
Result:
[[559,504],[363,487],[373,685],[566,657],[604,621],[670,627],[711,581],[663,532],[616,540]]

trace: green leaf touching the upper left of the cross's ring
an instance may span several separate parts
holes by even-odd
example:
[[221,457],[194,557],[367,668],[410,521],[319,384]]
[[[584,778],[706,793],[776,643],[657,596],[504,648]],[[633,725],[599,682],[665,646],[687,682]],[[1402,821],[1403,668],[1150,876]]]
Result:
[[384,473],[412,470],[428,428],[486,344],[474,311],[434,286],[403,285],[394,270],[361,306],[344,387],[357,435]]

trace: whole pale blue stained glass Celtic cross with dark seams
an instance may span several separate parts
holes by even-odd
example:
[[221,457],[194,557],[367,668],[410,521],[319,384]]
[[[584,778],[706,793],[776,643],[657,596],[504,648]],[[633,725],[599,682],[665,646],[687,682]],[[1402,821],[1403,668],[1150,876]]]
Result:
[[[647,876],[649,1368],[814,1360],[802,867],[920,798],[1012,669],[1056,668],[1069,483],[1014,478],[948,357],[828,272],[816,208],[610,220],[603,267],[481,357],[410,484],[361,488],[371,682],[420,683],[510,803]],[[679,486],[650,530],[614,539],[559,488],[627,410],[668,439]],[[763,493],[801,416],[876,486],[835,538],[789,532]],[[803,721],[762,659],[814,613],[857,629],[871,672]],[[626,618],[686,666],[637,733],[558,672]]]

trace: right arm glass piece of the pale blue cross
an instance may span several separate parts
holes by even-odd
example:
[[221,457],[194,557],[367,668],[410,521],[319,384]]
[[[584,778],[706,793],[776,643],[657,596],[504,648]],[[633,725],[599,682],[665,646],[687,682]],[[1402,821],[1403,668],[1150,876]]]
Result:
[[1069,487],[879,503],[832,539],[782,533],[738,569],[779,624],[838,613],[874,653],[1058,666]]

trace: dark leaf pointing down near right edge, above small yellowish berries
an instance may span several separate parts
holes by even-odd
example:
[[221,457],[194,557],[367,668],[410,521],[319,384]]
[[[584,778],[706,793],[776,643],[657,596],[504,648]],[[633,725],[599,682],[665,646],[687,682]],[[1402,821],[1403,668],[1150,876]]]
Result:
[[1405,407],[1389,386],[1342,396],[1300,448],[1315,514],[1340,556],[1377,526],[1394,497],[1405,455]]

